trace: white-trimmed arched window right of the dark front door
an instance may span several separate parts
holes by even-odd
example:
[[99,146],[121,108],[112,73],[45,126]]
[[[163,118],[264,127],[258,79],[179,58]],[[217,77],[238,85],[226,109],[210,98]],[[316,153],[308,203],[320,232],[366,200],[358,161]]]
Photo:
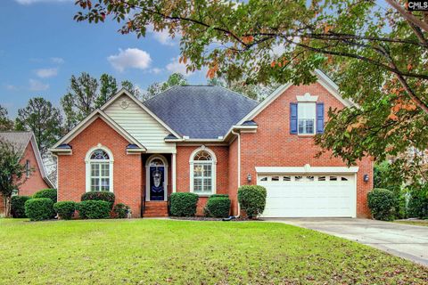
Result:
[[213,151],[202,147],[190,158],[191,191],[200,195],[216,192],[216,157]]

